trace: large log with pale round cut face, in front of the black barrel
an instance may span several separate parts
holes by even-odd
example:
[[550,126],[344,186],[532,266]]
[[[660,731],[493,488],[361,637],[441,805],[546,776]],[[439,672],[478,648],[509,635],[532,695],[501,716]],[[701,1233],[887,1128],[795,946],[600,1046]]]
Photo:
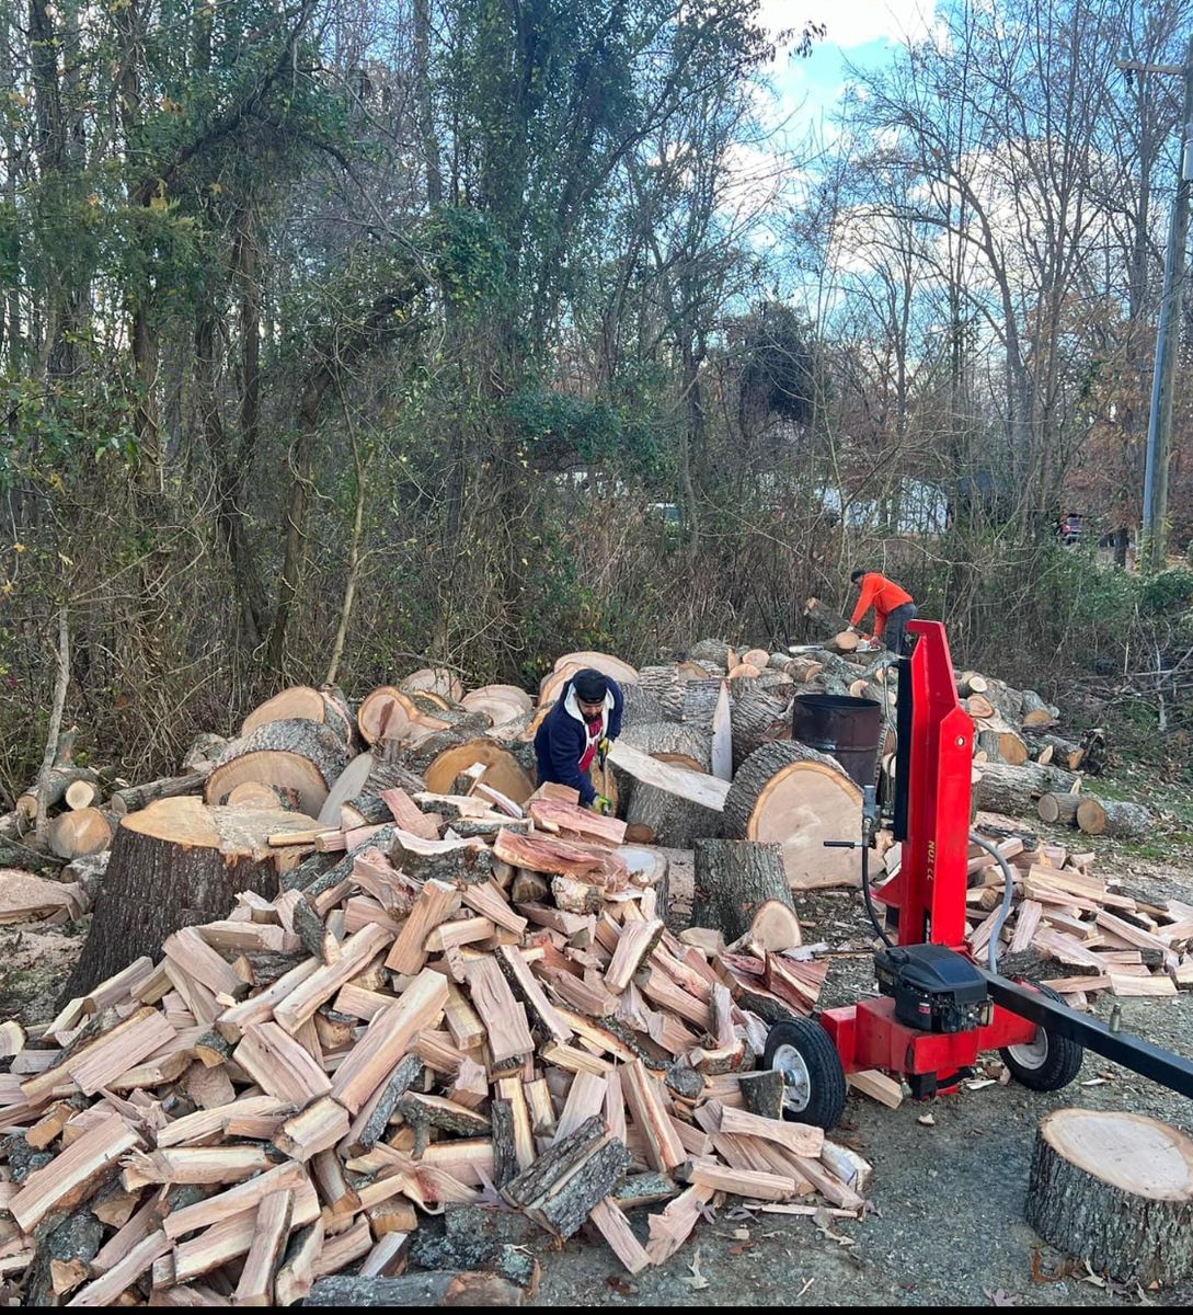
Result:
[[782,846],[792,889],[861,881],[855,849],[824,847],[862,835],[862,792],[828,753],[795,740],[763,744],[733,778],[724,818],[727,836]]

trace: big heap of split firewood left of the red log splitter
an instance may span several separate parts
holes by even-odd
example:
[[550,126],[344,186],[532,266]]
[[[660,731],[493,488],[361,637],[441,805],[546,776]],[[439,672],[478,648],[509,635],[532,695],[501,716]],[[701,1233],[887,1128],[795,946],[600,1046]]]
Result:
[[[665,861],[568,794],[392,788],[368,835],[281,832],[310,851],[281,894],[72,999],[0,1076],[22,1299],[289,1304],[409,1262],[532,1290],[523,1251],[478,1262],[453,1231],[478,1206],[561,1240],[587,1224],[631,1273],[721,1194],[859,1216],[829,1168],[850,1156],[782,1120],[778,1080],[745,1081],[762,1014],[809,1014],[824,965],[673,936]],[[642,1245],[624,1211],[646,1203]]]

